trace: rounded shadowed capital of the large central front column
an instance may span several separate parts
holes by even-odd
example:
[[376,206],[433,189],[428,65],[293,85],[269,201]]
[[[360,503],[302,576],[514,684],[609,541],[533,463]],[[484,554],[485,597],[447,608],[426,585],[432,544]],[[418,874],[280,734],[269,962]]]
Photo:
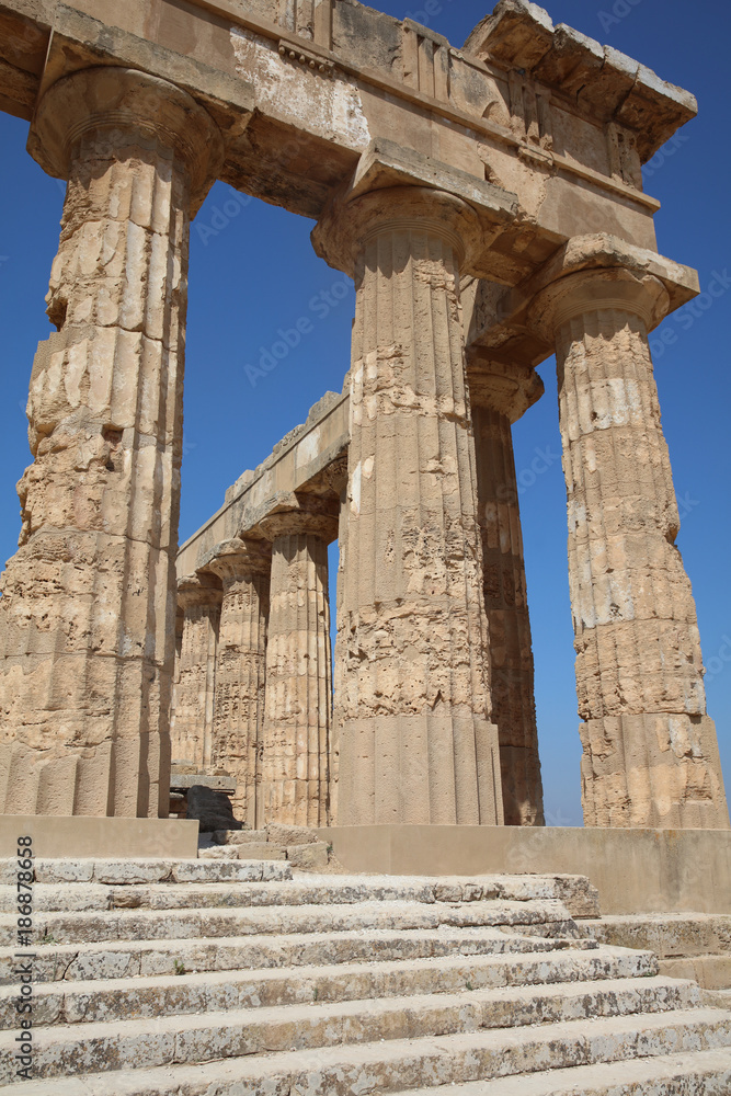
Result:
[[335,198],[312,230],[317,254],[355,276],[358,256],[384,232],[414,230],[449,243],[461,267],[483,247],[480,218],[467,202],[429,186],[384,186]]

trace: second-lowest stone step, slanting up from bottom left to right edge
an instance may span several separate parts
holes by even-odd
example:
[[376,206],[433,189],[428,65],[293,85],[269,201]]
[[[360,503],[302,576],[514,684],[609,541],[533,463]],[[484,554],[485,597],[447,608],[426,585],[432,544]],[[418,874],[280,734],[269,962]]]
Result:
[[[581,989],[584,989],[583,986]],[[410,1002],[411,1005],[411,1002]],[[162,1021],[159,1021],[162,1023]],[[180,1020],[178,1021],[180,1024]],[[228,1017],[224,1015],[224,1023]],[[158,1024],[145,1025],[149,1044]],[[38,1032],[47,1039],[53,1032]],[[225,1029],[221,1031],[225,1037]],[[5,1038],[5,1037],[3,1037]],[[162,1038],[162,1037],[160,1037]],[[184,1036],[179,1036],[184,1042]],[[66,1076],[33,1083],[33,1096],[353,1096],[354,1093],[412,1092],[420,1086],[457,1085],[469,1081],[511,1077],[595,1063],[625,1062],[648,1055],[685,1054],[731,1046],[731,1016],[712,1008],[675,1013],[610,1016],[514,1029],[464,1031],[426,1039],[321,1047],[248,1055],[203,1064],[124,1069],[83,1076],[77,1060]],[[72,1052],[72,1048],[69,1047]],[[659,1059],[652,1059],[659,1062]],[[110,1063],[103,1063],[108,1066]],[[635,1064],[635,1063],[632,1063]],[[550,1084],[550,1078],[549,1078]],[[30,1092],[26,1082],[10,1084],[9,1096]],[[683,1096],[697,1096],[693,1088]],[[548,1086],[546,1093],[550,1093]],[[609,1089],[612,1093],[612,1089]],[[501,1082],[501,1096],[511,1096]],[[656,1091],[661,1096],[662,1089]],[[584,1096],[584,1094],[582,1094]],[[607,1094],[608,1096],[608,1094]],[[612,1096],[625,1096],[617,1089]],[[648,1089],[644,1096],[655,1096]],[[665,1096],[665,1094],[662,1094]]]

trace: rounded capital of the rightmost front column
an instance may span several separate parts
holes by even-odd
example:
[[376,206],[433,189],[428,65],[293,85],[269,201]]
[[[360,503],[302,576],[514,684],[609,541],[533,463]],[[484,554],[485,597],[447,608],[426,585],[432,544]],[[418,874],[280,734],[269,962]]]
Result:
[[601,309],[632,312],[649,332],[667,315],[670,296],[653,274],[627,267],[582,270],[567,274],[537,294],[530,323],[550,342],[564,323]]

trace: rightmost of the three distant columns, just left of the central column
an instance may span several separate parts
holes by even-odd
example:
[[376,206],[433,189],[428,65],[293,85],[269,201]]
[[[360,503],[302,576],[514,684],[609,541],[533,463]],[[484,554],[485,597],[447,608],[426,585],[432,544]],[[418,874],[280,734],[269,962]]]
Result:
[[328,824],[332,665],[328,545],[338,518],[316,500],[272,514],[263,809],[266,822]]

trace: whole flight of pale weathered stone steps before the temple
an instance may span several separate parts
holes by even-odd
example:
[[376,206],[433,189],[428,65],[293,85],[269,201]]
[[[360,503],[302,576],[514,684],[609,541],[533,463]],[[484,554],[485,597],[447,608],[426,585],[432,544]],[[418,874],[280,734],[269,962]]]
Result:
[[33,1080],[15,1077],[16,861],[0,861],[0,1085],[24,1096],[728,1096],[731,1014],[585,938],[582,877],[34,865]]

